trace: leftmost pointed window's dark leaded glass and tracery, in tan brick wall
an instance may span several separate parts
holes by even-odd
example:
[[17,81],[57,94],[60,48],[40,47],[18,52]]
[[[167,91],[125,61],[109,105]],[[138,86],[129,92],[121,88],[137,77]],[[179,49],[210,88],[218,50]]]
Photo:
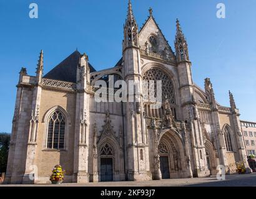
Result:
[[47,123],[47,149],[65,148],[66,118],[61,111],[56,110],[49,116]]

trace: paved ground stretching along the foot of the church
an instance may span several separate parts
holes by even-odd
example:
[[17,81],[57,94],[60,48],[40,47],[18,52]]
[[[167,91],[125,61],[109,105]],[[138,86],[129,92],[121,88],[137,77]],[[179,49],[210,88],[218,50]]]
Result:
[[98,183],[62,183],[62,185],[0,185],[0,187],[256,187],[256,173],[243,175],[226,175],[226,180],[217,180],[216,177],[184,178],[153,180],[146,182],[98,182]]

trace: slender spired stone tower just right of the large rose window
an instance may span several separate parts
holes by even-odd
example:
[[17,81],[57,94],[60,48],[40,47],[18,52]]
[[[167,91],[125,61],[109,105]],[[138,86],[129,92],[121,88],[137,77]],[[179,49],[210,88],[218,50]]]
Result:
[[189,60],[189,49],[178,19],[176,21],[176,29],[175,52],[177,70],[179,73],[182,116],[184,121],[190,123],[190,133],[192,137],[190,150],[192,150],[192,154],[194,154],[194,175],[200,177],[205,176],[205,173],[209,173],[209,170],[206,166],[207,162],[203,158],[205,156],[205,147],[202,137],[199,111],[194,99],[195,91],[191,73],[191,62]]

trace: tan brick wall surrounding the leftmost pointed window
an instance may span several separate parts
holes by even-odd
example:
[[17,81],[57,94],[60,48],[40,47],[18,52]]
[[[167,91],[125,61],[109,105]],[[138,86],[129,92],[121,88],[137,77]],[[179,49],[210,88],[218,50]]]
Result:
[[[71,121],[68,126],[68,143],[66,150],[47,150],[44,149],[44,139],[46,131],[46,116],[49,109],[60,106],[66,110]],[[74,126],[75,126],[75,111],[76,111],[76,93],[64,91],[42,90],[41,106],[40,106],[40,123],[37,131],[37,148],[36,148],[36,165],[38,174],[42,180],[46,180],[51,176],[54,165],[61,164],[66,170],[67,176],[73,174],[74,160]],[[67,121],[66,121],[67,122]],[[66,177],[70,180],[69,177]],[[49,181],[49,179],[47,179]]]

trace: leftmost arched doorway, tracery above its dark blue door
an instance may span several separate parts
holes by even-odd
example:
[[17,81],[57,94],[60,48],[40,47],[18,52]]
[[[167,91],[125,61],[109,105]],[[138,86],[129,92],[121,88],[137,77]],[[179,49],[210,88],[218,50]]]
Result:
[[101,147],[100,172],[101,182],[113,181],[114,149],[106,143]]

